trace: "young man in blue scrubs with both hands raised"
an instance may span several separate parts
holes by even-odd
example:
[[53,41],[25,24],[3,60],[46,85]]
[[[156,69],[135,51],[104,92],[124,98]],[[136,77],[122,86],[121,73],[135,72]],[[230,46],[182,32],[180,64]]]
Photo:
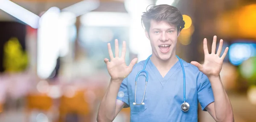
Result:
[[[117,40],[115,57],[108,44],[110,60],[105,58],[104,61],[111,81],[99,106],[97,121],[112,122],[122,108],[130,107],[131,122],[198,122],[199,102],[202,110],[208,111],[215,121],[233,122],[233,110],[220,78],[223,59],[228,51],[227,47],[220,55],[223,40],[220,40],[215,53],[217,37],[214,36],[212,52],[209,53],[207,39],[204,39],[204,64],[180,59],[186,74],[186,103],[189,103],[189,110],[182,111],[183,68],[175,52],[177,38],[185,24],[182,14],[173,6],[158,5],[143,13],[142,22],[145,35],[151,42],[152,55],[147,63],[140,61],[136,64],[137,58],[134,58],[126,66],[125,42],[121,57],[118,56]],[[148,72],[146,90],[145,73],[141,73],[135,92],[136,76],[145,63]]]

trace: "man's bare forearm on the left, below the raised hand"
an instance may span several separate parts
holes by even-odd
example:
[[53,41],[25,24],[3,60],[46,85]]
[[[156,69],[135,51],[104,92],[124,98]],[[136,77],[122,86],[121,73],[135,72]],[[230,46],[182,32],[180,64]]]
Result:
[[118,94],[120,83],[113,82],[109,83],[107,92],[105,93],[102,102],[99,105],[99,111],[97,116],[98,122],[112,122],[116,116],[116,96]]

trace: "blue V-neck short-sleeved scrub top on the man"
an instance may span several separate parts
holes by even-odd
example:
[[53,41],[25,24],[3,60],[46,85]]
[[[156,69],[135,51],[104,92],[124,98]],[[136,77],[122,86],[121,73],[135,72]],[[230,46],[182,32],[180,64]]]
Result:
[[[144,61],[135,64],[132,72],[125,78],[120,86],[117,99],[122,100],[125,108],[131,108],[131,122],[198,122],[198,102],[202,110],[214,102],[212,87],[206,75],[194,65],[182,60],[186,74],[186,102],[189,103],[189,111],[183,112],[180,108],[183,103],[183,72],[180,62],[169,70],[163,78],[160,72],[148,61],[148,84],[145,92],[145,105],[133,105],[135,78],[143,69]],[[145,89],[145,73],[137,82],[136,102],[143,99]]]

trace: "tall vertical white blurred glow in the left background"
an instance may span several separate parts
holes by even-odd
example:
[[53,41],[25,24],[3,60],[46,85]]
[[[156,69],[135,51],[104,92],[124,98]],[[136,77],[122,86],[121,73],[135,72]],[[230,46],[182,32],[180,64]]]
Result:
[[58,43],[60,39],[56,36],[59,33],[59,15],[59,8],[52,7],[40,19],[37,64],[37,73],[40,78],[48,78],[56,66],[60,48]]

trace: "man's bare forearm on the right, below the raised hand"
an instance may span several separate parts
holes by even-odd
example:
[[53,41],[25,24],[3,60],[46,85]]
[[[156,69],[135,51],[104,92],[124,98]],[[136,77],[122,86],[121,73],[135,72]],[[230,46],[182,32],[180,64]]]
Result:
[[220,77],[208,77],[214,96],[215,117],[220,122],[233,119],[233,110]]

